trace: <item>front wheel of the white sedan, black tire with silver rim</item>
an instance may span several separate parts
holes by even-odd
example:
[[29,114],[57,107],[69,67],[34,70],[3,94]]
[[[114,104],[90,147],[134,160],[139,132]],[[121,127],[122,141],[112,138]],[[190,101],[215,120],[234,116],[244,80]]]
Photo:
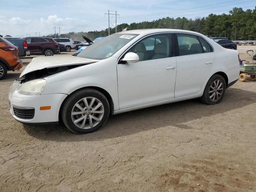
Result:
[[[92,106],[90,106],[91,104]],[[60,112],[66,128],[75,134],[86,134],[97,130],[106,123],[110,106],[107,98],[101,92],[94,89],[82,89],[68,96]]]

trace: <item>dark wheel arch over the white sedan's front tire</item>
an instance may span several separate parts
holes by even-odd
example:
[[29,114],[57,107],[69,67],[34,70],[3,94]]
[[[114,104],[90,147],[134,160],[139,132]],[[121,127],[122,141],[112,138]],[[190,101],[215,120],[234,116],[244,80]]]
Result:
[[61,106],[60,106],[60,110],[59,110],[59,121],[62,121],[61,118],[60,118],[60,115],[61,115],[61,111],[62,111],[62,106],[64,104],[64,102],[68,99],[68,97],[73,94],[74,92],[77,92],[79,90],[82,90],[82,89],[95,89],[99,92],[101,92],[108,100],[108,103],[109,103],[109,107],[110,107],[110,115],[113,115],[114,114],[114,102],[113,102],[113,99],[112,97],[110,96],[110,94],[104,90],[103,88],[100,88],[100,87],[96,87],[96,86],[88,86],[88,87],[83,87],[83,88],[79,88],[77,90],[74,90],[72,93],[70,93],[62,102]]

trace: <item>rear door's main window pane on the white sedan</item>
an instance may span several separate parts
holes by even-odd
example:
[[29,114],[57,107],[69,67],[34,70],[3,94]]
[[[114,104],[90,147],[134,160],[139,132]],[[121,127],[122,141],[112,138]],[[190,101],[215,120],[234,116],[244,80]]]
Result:
[[203,53],[197,36],[190,34],[177,34],[180,56]]

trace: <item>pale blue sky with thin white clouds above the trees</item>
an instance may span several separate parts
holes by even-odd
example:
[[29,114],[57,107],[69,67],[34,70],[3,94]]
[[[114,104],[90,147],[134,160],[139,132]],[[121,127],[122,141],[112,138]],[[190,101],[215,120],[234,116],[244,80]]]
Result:
[[[54,26],[60,26],[61,34],[102,30],[108,28],[108,10],[120,14],[117,24],[130,24],[167,16],[202,18],[255,6],[255,0],[0,0],[0,34],[43,36],[54,34]],[[115,16],[110,21],[115,25]]]

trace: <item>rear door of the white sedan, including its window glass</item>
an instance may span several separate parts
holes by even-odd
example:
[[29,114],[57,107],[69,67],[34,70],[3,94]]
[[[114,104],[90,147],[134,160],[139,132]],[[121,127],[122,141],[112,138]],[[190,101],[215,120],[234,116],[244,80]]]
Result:
[[199,93],[212,70],[215,56],[207,40],[193,34],[176,34],[177,77],[175,98]]

